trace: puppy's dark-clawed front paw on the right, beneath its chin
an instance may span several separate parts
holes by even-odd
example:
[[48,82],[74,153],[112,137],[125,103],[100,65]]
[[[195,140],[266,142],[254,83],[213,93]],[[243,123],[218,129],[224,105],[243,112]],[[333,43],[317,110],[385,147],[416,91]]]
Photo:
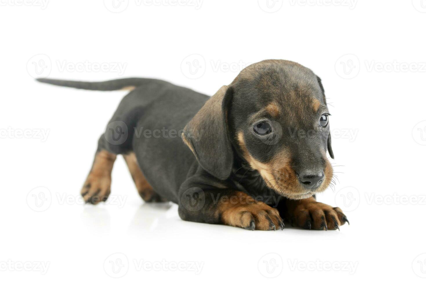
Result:
[[335,230],[348,222],[345,214],[339,207],[315,201],[313,198],[292,201],[296,204],[291,208],[290,221],[294,227],[314,230]]

